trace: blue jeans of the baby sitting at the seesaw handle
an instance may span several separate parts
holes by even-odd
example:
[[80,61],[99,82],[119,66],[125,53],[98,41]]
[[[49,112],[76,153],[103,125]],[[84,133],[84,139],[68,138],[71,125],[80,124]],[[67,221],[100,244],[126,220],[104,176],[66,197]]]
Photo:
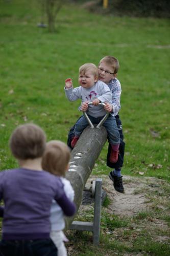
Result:
[[[103,116],[95,118],[95,117],[92,117],[89,115],[88,115],[88,117],[93,124],[98,124],[103,118]],[[81,116],[75,125],[74,134],[79,137],[87,125],[88,125],[88,121],[87,121],[86,117]],[[109,115],[108,118],[106,119],[106,121],[103,123],[103,126],[105,126],[105,128],[107,130],[109,143],[112,145],[119,144],[120,143],[120,135],[118,132],[118,127],[117,127],[115,117]]]

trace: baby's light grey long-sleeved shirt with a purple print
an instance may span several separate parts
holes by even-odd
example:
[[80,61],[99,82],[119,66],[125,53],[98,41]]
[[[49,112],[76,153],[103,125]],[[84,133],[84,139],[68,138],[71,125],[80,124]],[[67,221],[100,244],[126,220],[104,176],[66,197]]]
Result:
[[[90,88],[83,88],[81,86],[76,87],[75,89],[73,89],[73,87],[69,89],[65,88],[65,95],[70,101],[81,99],[81,103],[85,101],[91,102],[96,98],[99,99],[102,103],[112,103],[112,92],[110,91],[107,84],[100,80],[94,83],[94,86]],[[79,110],[81,110],[80,107]],[[93,117],[101,117],[106,115],[106,111],[102,105],[94,106],[91,104],[88,106],[86,113]]]

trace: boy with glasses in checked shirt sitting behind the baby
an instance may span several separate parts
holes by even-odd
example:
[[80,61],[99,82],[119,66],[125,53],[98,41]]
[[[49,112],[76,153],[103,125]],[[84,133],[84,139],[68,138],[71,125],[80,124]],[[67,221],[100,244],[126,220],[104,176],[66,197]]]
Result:
[[[122,92],[120,81],[117,79],[117,73],[119,69],[119,61],[114,56],[105,56],[99,61],[99,80],[105,82],[112,92],[111,102],[105,102],[105,110],[110,112],[116,119],[116,124],[118,127],[118,132],[120,135],[120,144],[118,148],[118,160],[116,163],[110,161],[110,156],[112,155],[112,147],[109,143],[108,154],[107,154],[107,166],[113,168],[109,173],[109,178],[113,181],[113,186],[115,190],[119,193],[124,193],[123,180],[121,175],[121,168],[124,163],[124,153],[125,153],[125,142],[122,129],[122,121],[119,118],[120,110],[120,95]],[[82,105],[82,111],[87,111],[87,104]],[[71,127],[68,133],[67,145],[72,149],[71,141],[74,138],[75,125]]]

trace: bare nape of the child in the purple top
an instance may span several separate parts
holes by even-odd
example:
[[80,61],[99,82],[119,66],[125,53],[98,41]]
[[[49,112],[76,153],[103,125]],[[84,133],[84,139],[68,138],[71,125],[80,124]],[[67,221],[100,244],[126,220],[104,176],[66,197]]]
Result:
[[41,167],[41,160],[42,158],[35,158],[35,159],[18,159],[18,163],[21,168],[31,169],[31,170],[42,170]]

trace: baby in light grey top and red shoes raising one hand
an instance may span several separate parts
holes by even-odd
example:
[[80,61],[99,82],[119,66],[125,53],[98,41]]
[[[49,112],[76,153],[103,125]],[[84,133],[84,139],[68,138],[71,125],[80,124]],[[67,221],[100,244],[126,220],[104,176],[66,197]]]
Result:
[[[85,63],[79,68],[79,84],[80,86],[73,89],[71,79],[66,79],[65,94],[68,100],[75,101],[82,99],[80,110],[86,111],[92,123],[98,124],[106,115],[106,110],[99,103],[109,102],[112,103],[112,93],[107,84],[99,78],[98,68],[93,63]],[[88,105],[92,102],[92,105]],[[77,143],[81,133],[88,125],[86,117],[83,115],[75,124],[74,137],[71,141],[73,148]],[[108,141],[111,144],[112,154],[110,161],[117,162],[118,147],[120,143],[120,136],[114,115],[111,113],[103,123],[108,133]]]

